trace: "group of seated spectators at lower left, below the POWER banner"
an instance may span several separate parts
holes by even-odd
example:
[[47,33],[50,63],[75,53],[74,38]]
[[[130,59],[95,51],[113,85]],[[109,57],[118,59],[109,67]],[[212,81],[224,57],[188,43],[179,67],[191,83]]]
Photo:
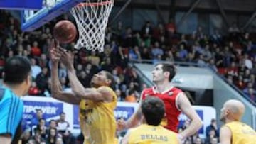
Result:
[[65,113],[60,113],[59,119],[47,121],[41,109],[36,109],[36,116],[31,121],[22,121],[22,144],[80,144],[82,139],[75,138],[70,132]]

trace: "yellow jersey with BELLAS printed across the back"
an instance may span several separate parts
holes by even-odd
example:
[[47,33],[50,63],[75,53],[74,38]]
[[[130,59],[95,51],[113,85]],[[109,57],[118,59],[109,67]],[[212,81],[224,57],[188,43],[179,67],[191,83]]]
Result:
[[178,144],[177,133],[167,130],[163,126],[149,126],[142,124],[129,131],[129,144]]

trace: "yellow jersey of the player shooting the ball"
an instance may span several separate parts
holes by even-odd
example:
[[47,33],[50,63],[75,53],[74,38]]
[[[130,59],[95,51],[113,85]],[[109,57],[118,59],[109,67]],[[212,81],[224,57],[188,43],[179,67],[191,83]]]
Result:
[[114,144],[116,139],[116,120],[114,109],[117,106],[117,95],[110,87],[112,102],[80,101],[80,128],[85,137],[84,144]]

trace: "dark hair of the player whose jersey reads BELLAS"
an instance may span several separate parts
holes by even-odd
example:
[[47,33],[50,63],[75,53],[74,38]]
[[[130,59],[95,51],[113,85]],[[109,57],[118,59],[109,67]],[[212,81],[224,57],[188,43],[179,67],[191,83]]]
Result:
[[164,118],[164,102],[158,97],[147,96],[142,102],[142,113],[147,124],[159,126],[162,118]]

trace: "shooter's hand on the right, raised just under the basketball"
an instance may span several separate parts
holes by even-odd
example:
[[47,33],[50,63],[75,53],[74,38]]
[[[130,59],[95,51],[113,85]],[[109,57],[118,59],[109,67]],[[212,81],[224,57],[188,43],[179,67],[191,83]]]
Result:
[[74,54],[71,51],[68,51],[60,48],[60,62],[63,63],[63,65],[65,65],[65,67],[67,67],[68,69],[73,67],[73,63],[74,63]]

